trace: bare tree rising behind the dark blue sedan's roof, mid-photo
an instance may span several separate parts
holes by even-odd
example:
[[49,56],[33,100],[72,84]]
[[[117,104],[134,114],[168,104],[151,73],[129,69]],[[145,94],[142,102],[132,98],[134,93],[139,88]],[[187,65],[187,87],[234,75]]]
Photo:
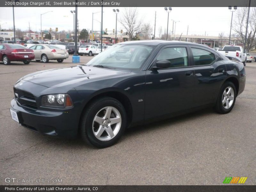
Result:
[[130,40],[133,40],[137,34],[141,33],[140,27],[142,21],[138,19],[137,8],[129,7],[124,9],[124,14],[118,22],[126,29]]

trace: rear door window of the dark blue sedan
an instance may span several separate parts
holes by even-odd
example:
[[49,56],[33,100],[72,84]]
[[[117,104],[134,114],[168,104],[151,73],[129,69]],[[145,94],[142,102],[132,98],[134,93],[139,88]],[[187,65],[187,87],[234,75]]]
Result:
[[191,48],[195,65],[210,65],[214,60],[215,56],[209,51],[203,49]]

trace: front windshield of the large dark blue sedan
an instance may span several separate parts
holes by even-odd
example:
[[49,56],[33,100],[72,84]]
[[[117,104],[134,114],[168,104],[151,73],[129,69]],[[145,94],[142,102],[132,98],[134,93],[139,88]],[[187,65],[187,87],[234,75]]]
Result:
[[153,46],[119,44],[94,57],[86,65],[122,70],[139,70],[153,50]]

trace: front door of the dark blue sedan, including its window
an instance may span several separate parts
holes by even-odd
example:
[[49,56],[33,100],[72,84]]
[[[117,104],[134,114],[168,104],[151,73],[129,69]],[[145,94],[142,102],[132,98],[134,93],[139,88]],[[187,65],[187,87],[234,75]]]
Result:
[[[191,108],[194,70],[187,45],[164,46],[153,62],[169,60],[170,68],[146,72],[145,118]],[[154,65],[154,64],[153,64]]]

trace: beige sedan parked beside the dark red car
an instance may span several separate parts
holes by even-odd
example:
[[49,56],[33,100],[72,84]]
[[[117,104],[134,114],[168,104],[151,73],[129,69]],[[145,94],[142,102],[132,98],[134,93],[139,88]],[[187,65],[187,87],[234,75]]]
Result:
[[60,49],[54,45],[39,44],[30,47],[35,53],[35,60],[43,63],[48,63],[49,60],[57,60],[59,63],[68,58],[66,49]]

